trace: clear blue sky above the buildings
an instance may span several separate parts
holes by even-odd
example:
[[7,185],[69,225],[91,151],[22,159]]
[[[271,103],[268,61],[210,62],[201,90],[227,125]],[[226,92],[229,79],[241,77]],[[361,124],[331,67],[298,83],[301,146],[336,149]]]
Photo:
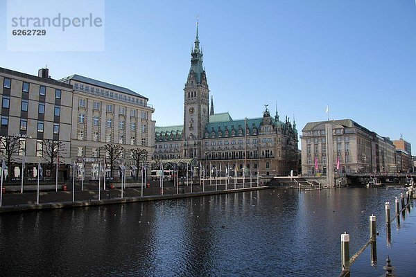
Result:
[[[6,1],[0,0],[0,37]],[[183,124],[196,15],[216,112],[351,118],[416,148],[415,0],[105,1],[105,51],[8,52],[0,66],[77,73],[149,98],[158,126]],[[94,43],[86,41],[85,44]]]

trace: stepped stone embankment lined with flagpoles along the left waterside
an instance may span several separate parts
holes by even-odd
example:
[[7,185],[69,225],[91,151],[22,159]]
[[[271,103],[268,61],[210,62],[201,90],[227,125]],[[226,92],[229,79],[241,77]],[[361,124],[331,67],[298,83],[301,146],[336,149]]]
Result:
[[[227,190],[225,190],[225,184],[218,184],[218,186],[193,185],[191,192],[191,186],[179,186],[179,188],[177,188],[173,186],[173,183],[165,182],[163,195],[161,188],[159,188],[159,186],[155,187],[155,184],[152,184],[150,188],[143,188],[143,197],[141,197],[141,184],[138,184],[139,186],[137,186],[137,183],[126,185],[126,188],[121,190],[120,184],[114,184],[116,188],[108,190],[109,187],[107,184],[107,190],[103,190],[103,184],[101,184],[99,199],[98,184],[84,184],[84,190],[81,190],[80,184],[76,184],[74,193],[72,193],[72,184],[70,186],[67,185],[67,190],[69,191],[62,191],[62,188],[58,186],[58,192],[55,192],[55,185],[53,185],[53,191],[51,191],[51,188],[49,187],[47,188],[48,190],[45,191],[46,188],[42,187],[44,190],[42,190],[42,188],[40,190],[39,204],[37,204],[37,186],[35,191],[24,192],[23,194],[20,193],[20,190],[16,193],[6,192],[3,193],[0,213],[7,213],[12,211],[43,210],[51,208],[74,208],[107,204],[123,204],[130,202],[177,199],[184,197],[199,197],[204,195],[240,193],[243,191],[269,188],[268,186],[257,187],[256,184],[252,184],[252,188],[250,188],[250,184],[245,184],[245,188],[242,188],[243,184],[237,184],[236,189],[234,189],[233,184],[231,186],[232,189],[229,189],[230,186],[227,186]],[[123,198],[121,198],[122,191]]]

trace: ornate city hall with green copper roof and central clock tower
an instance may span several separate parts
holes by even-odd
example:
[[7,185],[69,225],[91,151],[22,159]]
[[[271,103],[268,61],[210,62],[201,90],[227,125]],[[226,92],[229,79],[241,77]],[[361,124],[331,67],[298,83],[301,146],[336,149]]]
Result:
[[258,118],[234,120],[229,113],[216,114],[212,97],[209,106],[202,55],[197,26],[183,94],[183,125],[155,127],[154,159],[172,162],[196,159],[204,175],[220,169],[221,176],[241,176],[244,168],[247,174],[265,176],[295,171],[298,163],[295,122],[291,123],[287,117],[279,120],[277,111],[271,116],[268,105]]

